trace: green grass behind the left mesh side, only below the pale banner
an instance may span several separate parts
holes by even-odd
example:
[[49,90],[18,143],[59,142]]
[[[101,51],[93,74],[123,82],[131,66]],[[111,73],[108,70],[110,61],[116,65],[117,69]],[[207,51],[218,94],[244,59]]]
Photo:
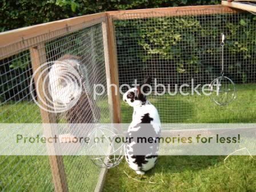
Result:
[[[69,191],[93,191],[100,168],[89,156],[65,156]],[[54,191],[48,156],[0,156],[0,191]]]

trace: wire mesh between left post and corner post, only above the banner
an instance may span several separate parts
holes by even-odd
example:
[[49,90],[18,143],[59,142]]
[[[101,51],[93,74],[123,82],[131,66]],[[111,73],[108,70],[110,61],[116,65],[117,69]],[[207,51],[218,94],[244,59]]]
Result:
[[[57,61],[59,58],[63,58],[63,55],[66,59],[71,58],[78,61],[78,71],[82,77],[85,91],[83,91],[78,105],[67,111],[66,117],[64,117],[67,120],[66,122],[110,122],[107,95],[102,95],[97,100],[93,99],[93,85],[101,84],[106,86],[101,24],[87,27],[47,42],[46,54],[49,62]],[[65,61],[65,58],[61,61],[63,60]],[[60,93],[61,97],[64,97],[63,94]],[[86,99],[86,97],[89,98]],[[88,107],[91,107],[91,109]]]

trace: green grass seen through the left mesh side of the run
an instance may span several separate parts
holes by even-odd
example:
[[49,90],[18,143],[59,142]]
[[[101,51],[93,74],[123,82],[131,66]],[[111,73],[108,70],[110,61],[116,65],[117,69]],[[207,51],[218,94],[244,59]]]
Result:
[[[1,123],[41,123],[38,106],[31,102],[9,102],[0,114]],[[90,157],[65,156],[63,161],[69,191],[94,190],[101,169]],[[0,156],[0,191],[54,191],[49,157]]]

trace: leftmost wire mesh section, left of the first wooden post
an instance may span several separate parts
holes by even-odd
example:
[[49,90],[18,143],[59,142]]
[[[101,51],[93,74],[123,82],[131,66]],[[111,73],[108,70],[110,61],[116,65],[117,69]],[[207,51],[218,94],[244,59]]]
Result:
[[[0,122],[41,123],[29,91],[33,73],[29,50],[2,59],[0,70]],[[48,157],[0,156],[1,191],[53,191],[51,181]]]

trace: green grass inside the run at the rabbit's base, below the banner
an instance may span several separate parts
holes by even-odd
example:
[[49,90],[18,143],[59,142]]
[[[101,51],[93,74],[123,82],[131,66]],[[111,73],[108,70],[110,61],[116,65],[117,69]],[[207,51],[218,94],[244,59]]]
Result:
[[[103,191],[255,191],[255,159],[230,157],[226,161],[226,166],[230,168],[227,169],[224,158],[161,156],[154,169],[142,176],[136,175],[123,161],[118,167],[109,170]],[[138,181],[127,177],[123,171]]]

